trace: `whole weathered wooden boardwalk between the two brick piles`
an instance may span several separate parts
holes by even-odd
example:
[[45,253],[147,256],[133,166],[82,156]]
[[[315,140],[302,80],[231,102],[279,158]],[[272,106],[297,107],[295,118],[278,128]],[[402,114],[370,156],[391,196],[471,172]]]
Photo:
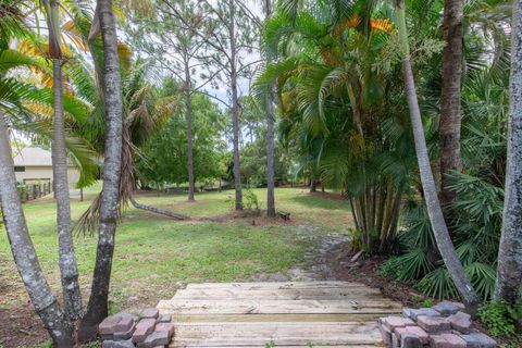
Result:
[[190,284],[158,303],[170,347],[383,347],[376,319],[400,303],[359,283]]

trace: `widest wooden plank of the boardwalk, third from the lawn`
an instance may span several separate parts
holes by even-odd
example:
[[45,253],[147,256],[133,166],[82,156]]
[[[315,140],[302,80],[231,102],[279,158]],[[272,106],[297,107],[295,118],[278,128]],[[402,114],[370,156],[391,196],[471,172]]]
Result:
[[158,309],[179,314],[389,313],[400,304],[382,300],[162,300]]

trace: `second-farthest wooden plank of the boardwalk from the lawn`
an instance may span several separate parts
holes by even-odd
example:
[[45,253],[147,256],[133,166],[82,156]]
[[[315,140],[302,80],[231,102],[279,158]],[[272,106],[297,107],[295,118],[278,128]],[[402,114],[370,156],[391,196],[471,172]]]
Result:
[[245,290],[243,288],[182,289],[172,299],[357,299],[383,298],[381,290],[365,287]]

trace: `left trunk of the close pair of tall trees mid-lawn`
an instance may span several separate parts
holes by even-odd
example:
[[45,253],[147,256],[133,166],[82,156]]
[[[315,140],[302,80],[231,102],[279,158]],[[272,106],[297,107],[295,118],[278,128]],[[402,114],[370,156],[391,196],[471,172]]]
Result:
[[231,11],[231,23],[228,26],[228,30],[231,38],[232,125],[234,133],[234,186],[236,189],[236,210],[243,210],[241,170],[239,166],[239,114],[237,108],[237,61],[234,0],[228,0],[228,8]]

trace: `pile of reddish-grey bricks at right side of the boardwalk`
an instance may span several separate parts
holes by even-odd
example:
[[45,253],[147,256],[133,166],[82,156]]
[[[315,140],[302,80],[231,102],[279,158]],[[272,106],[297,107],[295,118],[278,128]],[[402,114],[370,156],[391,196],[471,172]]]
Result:
[[496,348],[494,339],[473,327],[462,303],[443,301],[432,308],[402,311],[378,320],[384,343],[391,348]]

